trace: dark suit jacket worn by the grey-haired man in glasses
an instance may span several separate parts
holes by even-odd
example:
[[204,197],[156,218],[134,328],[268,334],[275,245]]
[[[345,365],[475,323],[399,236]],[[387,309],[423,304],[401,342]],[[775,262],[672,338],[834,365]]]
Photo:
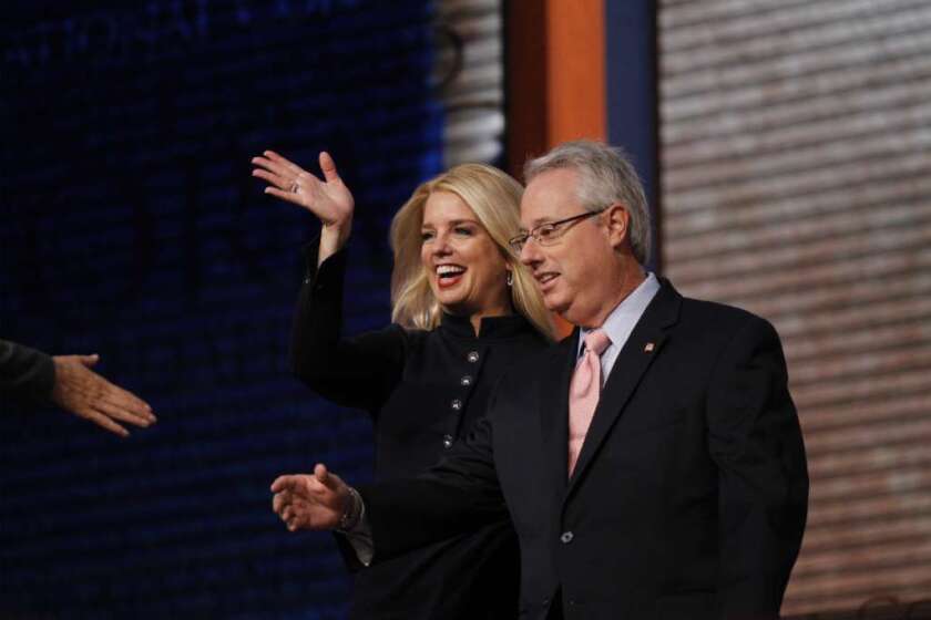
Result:
[[567,480],[576,343],[508,373],[487,418],[429,474],[360,488],[376,561],[507,505],[520,618],[776,618],[808,499],[776,331],[664,281]]

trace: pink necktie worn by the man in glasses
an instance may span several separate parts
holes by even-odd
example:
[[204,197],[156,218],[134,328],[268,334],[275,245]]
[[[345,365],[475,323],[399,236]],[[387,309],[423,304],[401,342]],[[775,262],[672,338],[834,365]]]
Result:
[[602,330],[585,335],[585,352],[579,359],[572,382],[569,384],[569,475],[575,468],[582,444],[601,394],[601,354],[611,345]]

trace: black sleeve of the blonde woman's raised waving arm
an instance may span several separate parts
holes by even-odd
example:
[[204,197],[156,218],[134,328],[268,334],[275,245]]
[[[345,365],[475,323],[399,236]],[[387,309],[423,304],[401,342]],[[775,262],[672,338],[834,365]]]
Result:
[[407,335],[392,324],[342,338],[346,250],[317,269],[317,242],[306,249],[307,275],[291,329],[291,368],[315,392],[340,405],[375,411],[400,381]]

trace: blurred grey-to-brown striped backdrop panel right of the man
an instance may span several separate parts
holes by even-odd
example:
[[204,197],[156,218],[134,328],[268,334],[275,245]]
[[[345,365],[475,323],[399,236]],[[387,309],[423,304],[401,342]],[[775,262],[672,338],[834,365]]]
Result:
[[770,319],[809,452],[784,613],[931,593],[931,4],[659,3],[665,272]]

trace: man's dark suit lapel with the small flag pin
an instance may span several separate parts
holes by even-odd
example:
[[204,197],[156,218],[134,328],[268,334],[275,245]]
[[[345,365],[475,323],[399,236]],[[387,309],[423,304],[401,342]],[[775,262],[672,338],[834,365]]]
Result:
[[659,354],[668,337],[669,328],[678,319],[682,297],[668,281],[663,280],[661,283],[662,288],[646,308],[614,362],[607,383],[598,399],[592,424],[585,434],[585,442],[582,444],[582,452],[575,464],[572,479],[569,480],[566,497],[584,477],[585,469],[623,413],[644,373]]

